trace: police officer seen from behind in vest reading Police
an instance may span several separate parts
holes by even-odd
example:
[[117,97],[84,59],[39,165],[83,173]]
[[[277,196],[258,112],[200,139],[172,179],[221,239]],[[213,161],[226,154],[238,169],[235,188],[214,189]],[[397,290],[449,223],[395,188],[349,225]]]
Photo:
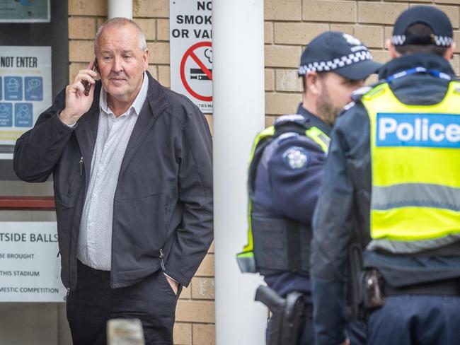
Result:
[[369,237],[360,305],[368,344],[459,344],[460,83],[452,25],[414,6],[387,42],[391,61],[338,118],[312,242],[316,344],[345,333],[347,255]]

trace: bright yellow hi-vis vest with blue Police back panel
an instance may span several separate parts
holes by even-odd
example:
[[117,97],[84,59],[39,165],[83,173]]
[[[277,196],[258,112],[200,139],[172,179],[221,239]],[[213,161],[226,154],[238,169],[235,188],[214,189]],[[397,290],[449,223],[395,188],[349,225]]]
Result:
[[371,129],[373,240],[459,238],[460,83],[452,81],[436,105],[405,105],[387,83],[362,103]]

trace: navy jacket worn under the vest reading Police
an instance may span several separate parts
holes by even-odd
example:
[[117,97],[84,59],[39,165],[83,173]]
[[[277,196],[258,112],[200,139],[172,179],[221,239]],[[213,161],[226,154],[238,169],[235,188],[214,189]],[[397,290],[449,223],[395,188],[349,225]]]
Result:
[[[433,54],[411,54],[384,65],[379,78],[422,66],[454,77],[449,62]],[[430,74],[413,74],[389,84],[408,105],[434,105],[447,93],[449,81]],[[351,242],[369,239],[371,195],[369,115],[360,99],[343,112],[333,129],[323,185],[314,215],[311,281],[316,344],[345,340],[345,282]],[[364,264],[377,267],[393,286],[408,286],[460,276],[459,243],[441,252],[404,256],[367,251]]]

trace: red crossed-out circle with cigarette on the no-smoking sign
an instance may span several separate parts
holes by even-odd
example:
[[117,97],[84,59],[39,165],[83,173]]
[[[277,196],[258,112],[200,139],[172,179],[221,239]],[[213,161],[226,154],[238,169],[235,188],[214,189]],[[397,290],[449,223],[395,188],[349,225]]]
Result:
[[198,42],[185,52],[180,62],[180,79],[198,100],[212,101],[212,43]]

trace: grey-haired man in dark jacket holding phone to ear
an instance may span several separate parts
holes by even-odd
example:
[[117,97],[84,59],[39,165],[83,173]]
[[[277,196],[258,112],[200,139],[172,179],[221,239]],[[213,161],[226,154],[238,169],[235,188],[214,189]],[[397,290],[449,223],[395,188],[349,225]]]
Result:
[[14,169],[27,182],[53,175],[74,345],[106,344],[113,317],[139,318],[146,344],[173,344],[178,295],[212,242],[211,135],[146,71],[134,21],[104,23],[95,52],[18,139]]

